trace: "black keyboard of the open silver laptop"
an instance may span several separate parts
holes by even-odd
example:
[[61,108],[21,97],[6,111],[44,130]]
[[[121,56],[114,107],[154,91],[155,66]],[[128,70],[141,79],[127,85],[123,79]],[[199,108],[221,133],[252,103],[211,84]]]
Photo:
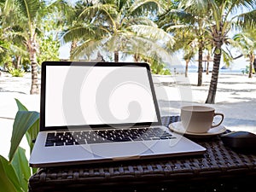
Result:
[[159,127],[108,131],[58,131],[47,134],[45,147],[111,142],[136,142],[173,139]]

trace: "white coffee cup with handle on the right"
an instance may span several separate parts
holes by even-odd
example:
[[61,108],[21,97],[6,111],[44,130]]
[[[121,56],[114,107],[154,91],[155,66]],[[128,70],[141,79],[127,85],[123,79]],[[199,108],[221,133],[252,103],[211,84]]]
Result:
[[[221,119],[217,124],[213,124],[215,116]],[[184,106],[180,113],[181,122],[186,131],[193,133],[204,133],[212,127],[221,125],[224,120],[223,113],[215,113],[215,109],[207,106]]]

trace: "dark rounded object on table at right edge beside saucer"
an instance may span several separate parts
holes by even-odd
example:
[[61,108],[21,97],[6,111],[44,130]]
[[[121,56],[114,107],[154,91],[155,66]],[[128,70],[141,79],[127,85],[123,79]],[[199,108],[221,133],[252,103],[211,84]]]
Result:
[[221,139],[224,145],[230,148],[250,150],[256,152],[256,135],[248,131],[231,131],[223,134]]

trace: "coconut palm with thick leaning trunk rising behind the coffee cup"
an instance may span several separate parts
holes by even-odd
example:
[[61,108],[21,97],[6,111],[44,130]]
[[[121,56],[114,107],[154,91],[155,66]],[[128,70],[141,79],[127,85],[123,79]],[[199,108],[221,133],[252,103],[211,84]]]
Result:
[[[248,22],[252,27],[255,26],[256,16],[254,5],[256,1],[188,0],[181,1],[181,3],[183,3],[183,9],[194,10],[195,13],[201,9],[207,10],[207,14],[204,17],[206,27],[201,28],[201,32],[207,32],[206,40],[212,44],[213,69],[206,103],[214,103],[218,84],[219,65],[221,56],[224,54],[223,45],[230,44],[228,33],[231,29],[239,29],[247,26],[246,24]],[[242,13],[239,10],[243,10]],[[201,26],[200,23],[198,23],[198,26]],[[203,42],[201,41],[201,43]],[[199,58],[200,60],[201,58]]]

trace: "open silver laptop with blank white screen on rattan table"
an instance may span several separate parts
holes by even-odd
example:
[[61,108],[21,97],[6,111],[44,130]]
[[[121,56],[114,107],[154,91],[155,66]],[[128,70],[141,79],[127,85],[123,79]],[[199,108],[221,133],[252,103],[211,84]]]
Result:
[[162,125],[148,63],[44,61],[29,164],[71,166],[203,154]]

